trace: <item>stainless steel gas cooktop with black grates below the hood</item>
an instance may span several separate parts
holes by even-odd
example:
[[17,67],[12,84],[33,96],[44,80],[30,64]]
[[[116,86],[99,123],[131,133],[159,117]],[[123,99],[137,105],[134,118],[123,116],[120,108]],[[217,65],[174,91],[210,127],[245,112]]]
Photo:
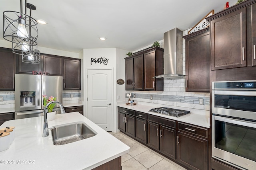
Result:
[[180,117],[182,115],[186,115],[190,113],[190,111],[187,111],[187,110],[173,109],[169,107],[157,107],[154,109],[150,109],[149,111],[160,113],[163,115],[175,116],[175,117]]

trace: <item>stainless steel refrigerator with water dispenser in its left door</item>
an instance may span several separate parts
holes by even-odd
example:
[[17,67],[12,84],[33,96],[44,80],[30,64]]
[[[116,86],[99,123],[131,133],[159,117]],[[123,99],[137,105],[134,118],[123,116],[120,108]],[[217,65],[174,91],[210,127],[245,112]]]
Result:
[[62,79],[62,76],[15,74],[15,119],[42,116],[42,95],[56,97],[62,103]]

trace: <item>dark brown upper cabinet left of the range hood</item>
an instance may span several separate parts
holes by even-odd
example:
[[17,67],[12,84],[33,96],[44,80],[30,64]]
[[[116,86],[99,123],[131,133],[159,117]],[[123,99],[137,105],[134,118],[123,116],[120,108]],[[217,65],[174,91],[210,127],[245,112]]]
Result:
[[126,90],[163,91],[164,80],[153,78],[164,73],[163,57],[159,47],[126,57]]

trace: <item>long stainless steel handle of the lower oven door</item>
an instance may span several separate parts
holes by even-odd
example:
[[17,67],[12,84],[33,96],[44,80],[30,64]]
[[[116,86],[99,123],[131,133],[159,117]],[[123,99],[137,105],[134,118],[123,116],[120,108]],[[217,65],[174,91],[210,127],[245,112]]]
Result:
[[227,123],[232,123],[232,124],[237,124],[237,125],[256,128],[256,122],[232,119],[232,118],[229,118],[229,117],[221,117],[221,116],[216,116],[216,115],[213,115],[212,117],[213,117],[213,120],[224,121],[224,122],[227,122]]

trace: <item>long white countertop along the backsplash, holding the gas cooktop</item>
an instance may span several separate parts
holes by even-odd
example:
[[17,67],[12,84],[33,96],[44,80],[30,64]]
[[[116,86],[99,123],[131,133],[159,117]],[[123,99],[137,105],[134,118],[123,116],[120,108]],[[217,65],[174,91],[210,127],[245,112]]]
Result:
[[[151,115],[165,117],[165,118],[176,120],[176,121],[181,121],[184,123],[190,123],[192,125],[198,125],[201,127],[210,128],[210,113],[208,113],[209,111],[205,111],[205,110],[190,109],[190,108],[184,108],[184,107],[172,107],[172,106],[166,106],[166,105],[162,106],[159,104],[151,104],[149,106],[149,105],[144,105],[143,103],[141,104],[139,102],[134,106],[126,105],[125,102],[118,102],[117,106],[136,110],[136,111],[141,111],[143,113],[148,113]],[[149,111],[150,109],[156,108],[156,107],[171,107],[175,109],[188,110],[190,111],[190,114],[183,115],[180,117],[174,117],[174,116],[162,115],[159,113]]]

